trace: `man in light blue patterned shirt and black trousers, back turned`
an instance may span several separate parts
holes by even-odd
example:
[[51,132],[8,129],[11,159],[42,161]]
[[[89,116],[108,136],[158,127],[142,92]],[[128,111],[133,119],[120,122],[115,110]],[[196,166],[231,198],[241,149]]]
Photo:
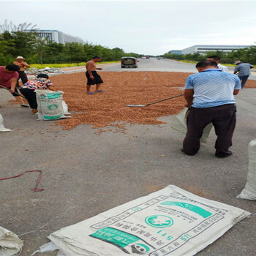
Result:
[[182,151],[193,156],[200,148],[203,129],[214,125],[217,140],[216,156],[228,157],[236,127],[236,101],[234,95],[241,89],[238,76],[217,69],[215,61],[200,61],[197,74],[189,75],[184,97],[187,108],[187,135]]

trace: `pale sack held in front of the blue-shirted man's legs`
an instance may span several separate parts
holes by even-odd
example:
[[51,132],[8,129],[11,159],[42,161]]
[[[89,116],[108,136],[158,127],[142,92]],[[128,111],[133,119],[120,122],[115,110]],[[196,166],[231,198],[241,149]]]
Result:
[[[178,132],[182,132],[184,134],[187,134],[187,115],[189,113],[189,108],[184,108],[181,110],[180,113],[178,113],[176,116],[174,116],[173,121],[170,124],[170,127],[173,129],[176,129]],[[208,139],[208,135],[211,132],[212,124],[208,124],[208,126],[203,129],[203,135],[201,138],[201,142],[206,143]]]

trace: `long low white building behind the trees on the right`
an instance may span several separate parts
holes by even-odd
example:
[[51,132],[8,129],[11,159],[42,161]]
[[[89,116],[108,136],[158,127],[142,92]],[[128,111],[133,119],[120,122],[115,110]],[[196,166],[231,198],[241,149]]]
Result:
[[225,53],[230,53],[233,50],[247,48],[249,45],[193,45],[189,48],[185,48],[181,50],[181,54],[193,54],[193,53],[201,53],[205,54],[208,51],[223,51]]

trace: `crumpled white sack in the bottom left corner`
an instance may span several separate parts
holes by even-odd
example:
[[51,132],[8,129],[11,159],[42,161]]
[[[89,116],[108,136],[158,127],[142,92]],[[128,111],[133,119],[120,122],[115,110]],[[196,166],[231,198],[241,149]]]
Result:
[[23,246],[23,241],[15,233],[0,227],[0,256],[17,255]]

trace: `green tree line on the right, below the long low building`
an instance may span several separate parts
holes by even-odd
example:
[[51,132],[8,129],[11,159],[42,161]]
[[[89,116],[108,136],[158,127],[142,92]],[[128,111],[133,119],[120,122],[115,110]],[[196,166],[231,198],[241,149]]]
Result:
[[208,56],[213,55],[219,56],[221,58],[221,62],[224,64],[233,64],[233,62],[236,60],[256,64],[256,45],[249,46],[248,48],[233,50],[230,53],[225,53],[223,51],[212,51],[207,52],[206,54],[193,53],[184,55],[165,53],[163,57],[176,60],[203,61]]

